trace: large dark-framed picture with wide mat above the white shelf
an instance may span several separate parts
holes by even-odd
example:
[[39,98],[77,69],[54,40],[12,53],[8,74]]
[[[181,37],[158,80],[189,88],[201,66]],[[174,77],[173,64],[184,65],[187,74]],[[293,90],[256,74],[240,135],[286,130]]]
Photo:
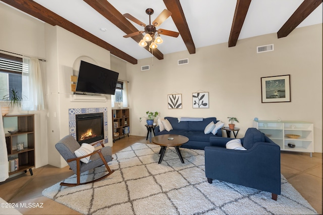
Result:
[[261,103],[290,101],[290,75],[279,75],[261,78]]

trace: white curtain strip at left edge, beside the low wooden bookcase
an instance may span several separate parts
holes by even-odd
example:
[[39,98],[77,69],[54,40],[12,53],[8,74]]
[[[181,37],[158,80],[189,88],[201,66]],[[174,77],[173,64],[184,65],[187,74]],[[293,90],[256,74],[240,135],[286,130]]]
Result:
[[4,124],[0,114],[0,182],[9,178],[7,144],[5,138]]

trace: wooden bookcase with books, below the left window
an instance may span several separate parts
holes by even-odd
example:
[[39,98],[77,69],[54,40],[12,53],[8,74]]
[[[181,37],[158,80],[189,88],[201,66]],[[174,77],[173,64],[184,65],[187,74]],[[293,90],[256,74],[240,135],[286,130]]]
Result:
[[[35,167],[35,135],[34,135],[34,115],[11,115],[3,116],[6,144],[8,159],[18,158],[18,168],[14,171],[9,169],[9,175],[13,175],[24,171],[25,173],[29,170],[30,174],[33,175],[32,169]],[[8,131],[16,130],[19,131],[15,134],[10,134]],[[17,143],[23,142],[24,149],[17,150]],[[10,162],[8,160],[8,162]],[[16,164],[17,165],[17,164]]]

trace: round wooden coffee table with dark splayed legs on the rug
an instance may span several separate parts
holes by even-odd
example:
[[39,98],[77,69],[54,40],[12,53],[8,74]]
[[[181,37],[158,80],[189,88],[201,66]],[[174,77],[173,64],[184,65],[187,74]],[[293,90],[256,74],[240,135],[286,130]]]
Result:
[[162,135],[153,137],[151,141],[157,145],[160,145],[160,151],[159,151],[160,157],[159,157],[158,164],[160,164],[161,160],[163,160],[166,148],[170,146],[175,147],[176,152],[180,157],[182,164],[184,164],[184,159],[180,151],[180,146],[188,142],[187,137],[178,135],[178,134],[162,134]]

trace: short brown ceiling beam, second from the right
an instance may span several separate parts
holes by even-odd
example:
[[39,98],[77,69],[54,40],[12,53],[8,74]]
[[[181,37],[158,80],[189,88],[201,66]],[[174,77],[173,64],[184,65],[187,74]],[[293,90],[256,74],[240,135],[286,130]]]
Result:
[[236,46],[244,20],[247,16],[251,0],[238,0],[234,12],[231,32],[229,36],[229,47]]

